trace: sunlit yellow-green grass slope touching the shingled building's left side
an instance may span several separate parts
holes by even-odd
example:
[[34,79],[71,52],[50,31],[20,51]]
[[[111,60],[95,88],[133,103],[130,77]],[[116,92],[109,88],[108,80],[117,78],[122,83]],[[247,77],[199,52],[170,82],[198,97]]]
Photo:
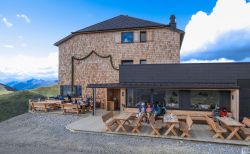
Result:
[[41,88],[33,89],[30,91],[43,95],[45,97],[57,96],[59,94],[59,86],[53,85],[50,87],[41,87]]

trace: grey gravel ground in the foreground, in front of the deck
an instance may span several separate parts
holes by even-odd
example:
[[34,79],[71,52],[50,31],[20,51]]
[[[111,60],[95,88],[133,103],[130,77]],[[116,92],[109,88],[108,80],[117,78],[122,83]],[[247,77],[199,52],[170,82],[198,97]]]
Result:
[[[72,133],[79,116],[26,113],[0,123],[0,154],[33,153],[226,153],[247,147],[112,134]],[[248,151],[248,150],[247,150]]]

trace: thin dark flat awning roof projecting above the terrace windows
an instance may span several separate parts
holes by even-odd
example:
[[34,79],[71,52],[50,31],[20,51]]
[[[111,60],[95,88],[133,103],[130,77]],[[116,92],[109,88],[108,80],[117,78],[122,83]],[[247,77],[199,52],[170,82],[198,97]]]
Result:
[[167,89],[239,89],[236,83],[105,83],[88,84],[87,88],[167,88]]

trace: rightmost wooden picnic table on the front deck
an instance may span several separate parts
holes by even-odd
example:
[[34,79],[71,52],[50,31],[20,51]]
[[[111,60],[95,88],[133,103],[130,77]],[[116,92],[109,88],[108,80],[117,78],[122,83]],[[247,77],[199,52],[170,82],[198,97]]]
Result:
[[237,139],[242,140],[238,134],[238,131],[243,126],[240,122],[228,117],[216,117],[216,119],[218,119],[231,132],[226,138],[227,140],[231,140],[234,136]]

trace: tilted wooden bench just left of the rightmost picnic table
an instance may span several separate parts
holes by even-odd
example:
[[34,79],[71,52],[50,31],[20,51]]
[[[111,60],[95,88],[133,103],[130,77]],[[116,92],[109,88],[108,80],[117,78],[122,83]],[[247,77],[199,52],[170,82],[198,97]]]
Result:
[[227,130],[221,127],[218,123],[214,122],[212,118],[206,117],[207,123],[210,127],[210,130],[212,130],[215,135],[213,138],[221,138],[224,139],[223,133],[226,133]]

